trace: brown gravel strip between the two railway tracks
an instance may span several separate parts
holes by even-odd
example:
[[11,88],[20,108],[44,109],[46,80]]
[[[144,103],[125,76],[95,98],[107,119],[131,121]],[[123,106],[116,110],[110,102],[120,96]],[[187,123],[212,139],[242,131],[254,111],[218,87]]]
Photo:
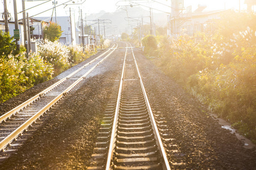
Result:
[[52,109],[43,125],[0,169],[85,169],[89,165],[104,107],[120,74],[117,56],[123,56],[124,49],[113,54],[95,69],[100,74],[86,79]]

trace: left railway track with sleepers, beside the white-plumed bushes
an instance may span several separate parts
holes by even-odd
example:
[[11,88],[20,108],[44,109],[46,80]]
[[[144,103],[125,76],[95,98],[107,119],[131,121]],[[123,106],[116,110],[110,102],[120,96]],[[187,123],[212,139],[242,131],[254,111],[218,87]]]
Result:
[[114,52],[117,46],[118,45],[114,43],[111,49],[108,49],[99,57],[86,63],[80,69],[74,71],[72,74],[61,79],[36,96],[33,96],[18,107],[3,114],[0,117],[0,160],[8,158],[12,152],[21,145],[24,138],[17,139],[17,137],[22,135],[24,130],[27,130],[37,118],[48,111],[58,100],[74,89],[74,87],[77,87],[96,66]]

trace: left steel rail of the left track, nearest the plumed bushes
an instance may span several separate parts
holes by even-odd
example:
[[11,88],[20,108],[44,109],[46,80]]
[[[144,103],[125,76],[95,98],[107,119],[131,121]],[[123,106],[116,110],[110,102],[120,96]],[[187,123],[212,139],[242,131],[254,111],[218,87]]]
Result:
[[[114,42],[116,43],[116,42]],[[117,45],[117,44],[116,44]],[[115,44],[111,47],[111,49],[115,46]],[[118,46],[118,45],[117,45]],[[117,48],[116,46],[116,48]],[[57,87],[58,85],[60,85],[61,83],[65,82],[67,79],[69,79],[71,76],[73,76],[74,74],[78,73],[78,71],[82,70],[83,68],[85,68],[86,66],[90,65],[91,63],[93,63],[94,61],[96,61],[96,59],[104,56],[104,54],[106,54],[107,52],[109,52],[111,49],[108,49],[106,52],[104,52],[103,54],[101,54],[100,56],[94,58],[92,61],[86,63],[85,65],[83,65],[82,67],[80,67],[79,69],[75,70],[72,74],[69,74],[68,76],[66,76],[65,78],[59,80],[58,82],[54,83],[52,86],[46,88],[44,91],[41,91],[39,94],[31,97],[31,99],[28,99],[27,101],[25,101],[24,103],[18,105],[18,107],[15,107],[14,109],[11,109],[11,111],[3,114],[2,116],[0,116],[0,123],[3,120],[6,120],[6,118],[12,116],[12,114],[20,111],[20,109],[23,109],[24,107],[27,107],[27,105],[33,103],[33,101],[35,101],[36,99],[38,99],[40,96],[43,96],[45,94],[47,94],[49,91],[51,91],[53,88]]]

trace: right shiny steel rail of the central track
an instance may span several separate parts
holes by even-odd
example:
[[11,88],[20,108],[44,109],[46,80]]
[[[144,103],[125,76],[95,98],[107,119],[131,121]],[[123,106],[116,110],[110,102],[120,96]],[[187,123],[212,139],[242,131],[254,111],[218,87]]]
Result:
[[[131,45],[131,44],[130,44]],[[132,45],[131,45],[132,46]],[[132,49],[132,48],[131,48]],[[171,169],[170,168],[170,165],[169,165],[169,161],[167,159],[167,155],[166,155],[166,152],[165,152],[165,148],[163,147],[163,144],[162,144],[162,140],[161,140],[161,137],[160,137],[160,133],[158,131],[158,128],[157,128],[157,124],[156,124],[156,120],[154,119],[154,115],[153,115],[153,112],[152,112],[152,109],[150,107],[150,103],[149,103],[149,100],[148,100],[148,96],[146,95],[146,90],[145,90],[145,87],[144,87],[144,84],[142,82],[142,78],[141,78],[141,74],[140,74],[140,71],[139,71],[139,67],[137,65],[137,62],[136,62],[136,59],[135,59],[135,55],[133,53],[133,49],[132,49],[132,55],[133,55],[133,59],[135,61],[135,66],[136,66],[136,70],[137,70],[137,75],[139,76],[139,80],[140,80],[140,84],[141,84],[141,89],[142,89],[142,92],[144,94],[144,98],[145,98],[145,101],[146,101],[146,105],[147,105],[147,108],[148,108],[148,111],[149,111],[149,116],[151,118],[151,122],[152,122],[152,127],[154,129],[154,134],[156,135],[156,141],[158,143],[158,147],[160,147],[160,153],[162,155],[162,158],[163,158],[163,163],[164,163],[164,167],[169,170]]]

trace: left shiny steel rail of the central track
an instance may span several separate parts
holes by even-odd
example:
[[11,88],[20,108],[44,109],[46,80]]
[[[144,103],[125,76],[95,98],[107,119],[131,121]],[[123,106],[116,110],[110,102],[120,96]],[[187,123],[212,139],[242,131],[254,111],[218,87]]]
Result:
[[126,60],[126,56],[127,56],[127,49],[128,49],[128,44],[127,44],[127,48],[125,50],[125,55],[124,55],[124,63],[123,63],[120,84],[119,84],[119,91],[118,91],[115,114],[114,114],[115,117],[114,117],[114,121],[113,121],[112,132],[111,132],[110,146],[108,147],[106,170],[110,169],[110,164],[111,164],[111,160],[112,160],[112,156],[113,156],[113,150],[115,148],[114,144],[115,144],[115,137],[116,137],[116,130],[117,130],[116,129],[117,128],[117,117],[118,117],[119,105],[120,105],[120,100],[121,100],[121,90],[122,90],[123,82],[124,82],[124,71],[125,71],[125,60]]

